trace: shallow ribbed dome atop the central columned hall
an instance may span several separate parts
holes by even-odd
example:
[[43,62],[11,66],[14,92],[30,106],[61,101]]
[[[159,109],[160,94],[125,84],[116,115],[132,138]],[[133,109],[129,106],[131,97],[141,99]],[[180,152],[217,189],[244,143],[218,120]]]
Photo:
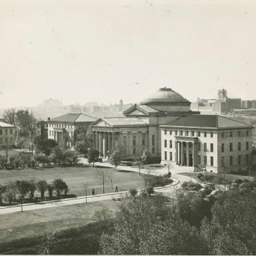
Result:
[[190,103],[187,99],[183,98],[179,93],[176,93],[171,88],[161,88],[155,93],[152,93],[141,101],[141,104],[151,104],[151,103]]

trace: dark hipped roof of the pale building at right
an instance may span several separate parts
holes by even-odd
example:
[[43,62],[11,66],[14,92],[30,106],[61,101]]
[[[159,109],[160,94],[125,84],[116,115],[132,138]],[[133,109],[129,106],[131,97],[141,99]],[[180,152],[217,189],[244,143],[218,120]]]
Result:
[[187,115],[166,124],[175,127],[207,128],[253,128],[251,125],[223,117],[221,115]]

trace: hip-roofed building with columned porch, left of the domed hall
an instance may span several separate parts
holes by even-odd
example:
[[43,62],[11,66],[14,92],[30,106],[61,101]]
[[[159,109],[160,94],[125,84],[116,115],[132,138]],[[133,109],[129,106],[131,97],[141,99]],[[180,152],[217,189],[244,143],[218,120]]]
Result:
[[48,119],[48,139],[57,141],[62,149],[74,149],[74,132],[79,126],[89,126],[97,119],[83,113],[69,113]]

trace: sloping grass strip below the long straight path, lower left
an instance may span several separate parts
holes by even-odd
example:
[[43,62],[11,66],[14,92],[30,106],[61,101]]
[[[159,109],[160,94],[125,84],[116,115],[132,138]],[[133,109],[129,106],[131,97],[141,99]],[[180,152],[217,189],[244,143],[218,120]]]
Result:
[[109,200],[2,214],[0,215],[0,240],[8,242],[41,235],[44,231],[59,231],[86,225],[95,221],[95,211],[107,207],[114,212],[118,203],[119,201]]

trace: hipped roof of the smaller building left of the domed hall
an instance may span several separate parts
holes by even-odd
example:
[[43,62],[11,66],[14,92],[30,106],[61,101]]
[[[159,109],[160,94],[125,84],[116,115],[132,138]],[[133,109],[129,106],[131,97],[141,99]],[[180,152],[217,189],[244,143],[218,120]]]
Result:
[[91,117],[90,115],[85,115],[83,113],[68,113],[50,119],[48,122],[67,122],[67,123],[83,123],[83,122],[95,122],[97,118]]

